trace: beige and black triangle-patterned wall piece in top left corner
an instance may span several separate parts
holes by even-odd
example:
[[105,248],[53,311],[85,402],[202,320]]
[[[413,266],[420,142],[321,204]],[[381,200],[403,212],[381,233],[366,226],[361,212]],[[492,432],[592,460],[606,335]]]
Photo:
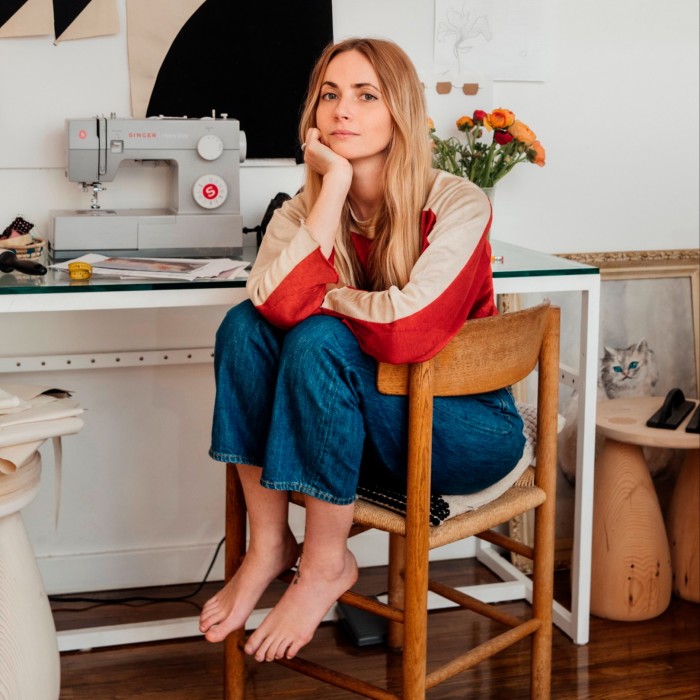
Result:
[[0,0],[0,37],[53,34],[59,43],[118,32],[116,0]]

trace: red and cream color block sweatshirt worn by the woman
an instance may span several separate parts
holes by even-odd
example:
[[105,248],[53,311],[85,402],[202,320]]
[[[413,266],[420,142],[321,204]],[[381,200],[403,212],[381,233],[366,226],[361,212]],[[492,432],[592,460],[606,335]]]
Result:
[[[273,325],[291,328],[313,314],[342,319],[362,350],[380,362],[421,362],[437,354],[470,318],[497,313],[488,231],[491,207],[471,182],[444,171],[421,214],[422,252],[408,282],[384,291],[345,286],[305,225],[300,195],[278,209],[251,270],[251,301]],[[372,242],[353,233],[360,262]]]

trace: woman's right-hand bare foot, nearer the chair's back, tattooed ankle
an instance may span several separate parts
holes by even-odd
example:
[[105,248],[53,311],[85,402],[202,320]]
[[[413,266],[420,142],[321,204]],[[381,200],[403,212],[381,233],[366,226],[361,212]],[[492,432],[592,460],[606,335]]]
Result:
[[303,570],[250,636],[245,651],[256,661],[293,658],[308,644],[333,603],[357,580],[357,562],[349,550],[340,570],[313,568],[304,561]]

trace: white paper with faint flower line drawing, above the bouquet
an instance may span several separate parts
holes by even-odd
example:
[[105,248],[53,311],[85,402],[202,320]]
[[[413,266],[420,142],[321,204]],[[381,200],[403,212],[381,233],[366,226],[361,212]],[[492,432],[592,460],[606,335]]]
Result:
[[544,80],[543,0],[435,0],[435,73]]

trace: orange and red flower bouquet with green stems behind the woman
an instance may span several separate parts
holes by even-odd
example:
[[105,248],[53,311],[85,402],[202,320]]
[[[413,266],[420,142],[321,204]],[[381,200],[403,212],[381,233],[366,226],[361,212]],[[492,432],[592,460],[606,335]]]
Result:
[[[545,152],[534,132],[515,118],[508,109],[484,112],[477,109],[471,117],[460,117],[457,129],[464,140],[451,136],[441,139],[429,120],[433,142],[433,166],[465,177],[479,187],[493,187],[518,163],[544,166]],[[493,132],[491,142],[485,132]]]

